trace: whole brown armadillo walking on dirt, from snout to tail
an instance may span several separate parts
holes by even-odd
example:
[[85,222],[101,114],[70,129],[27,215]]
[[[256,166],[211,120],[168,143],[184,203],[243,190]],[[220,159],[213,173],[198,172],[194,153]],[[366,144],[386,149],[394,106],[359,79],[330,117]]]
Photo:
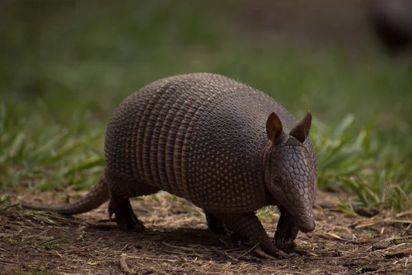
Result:
[[[183,74],[131,94],[113,113],[106,166],[91,191],[63,206],[27,208],[80,214],[110,199],[109,217],[141,232],[130,197],[165,190],[192,201],[216,233],[229,228],[268,254],[295,250],[299,230],[315,228],[317,156],[312,115],[297,121],[258,89],[218,74]],[[255,214],[281,213],[273,244]]]

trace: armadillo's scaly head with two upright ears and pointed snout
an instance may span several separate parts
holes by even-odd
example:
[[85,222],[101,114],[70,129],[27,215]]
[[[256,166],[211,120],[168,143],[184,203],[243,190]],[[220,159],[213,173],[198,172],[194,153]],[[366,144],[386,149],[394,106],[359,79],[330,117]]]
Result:
[[317,164],[306,140],[312,121],[308,112],[290,131],[284,131],[275,113],[269,115],[266,132],[270,142],[263,155],[265,182],[277,206],[288,211],[302,232],[314,230],[312,206],[316,196]]

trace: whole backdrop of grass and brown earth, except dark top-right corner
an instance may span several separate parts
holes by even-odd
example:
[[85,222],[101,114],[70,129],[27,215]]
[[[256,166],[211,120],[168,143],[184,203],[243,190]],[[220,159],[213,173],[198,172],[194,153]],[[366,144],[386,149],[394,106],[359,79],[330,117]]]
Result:
[[[395,164],[411,176],[411,58],[380,50],[358,1],[307,2],[1,1],[1,184],[45,184],[42,168],[61,181],[74,164],[66,184],[84,182],[74,171],[101,171],[104,128],[117,104],[189,72],[240,80],[297,116],[310,109],[312,139],[326,150],[322,175],[358,161],[345,176],[399,170]],[[81,156],[70,155],[72,147]],[[320,180],[334,185],[338,174]]]

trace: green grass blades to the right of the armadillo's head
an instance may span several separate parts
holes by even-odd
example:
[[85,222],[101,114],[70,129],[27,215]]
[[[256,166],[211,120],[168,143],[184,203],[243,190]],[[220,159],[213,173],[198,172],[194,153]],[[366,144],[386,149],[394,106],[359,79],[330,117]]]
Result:
[[371,124],[358,135],[348,134],[353,118],[348,115],[334,131],[322,126],[322,131],[317,127],[312,133],[319,160],[319,187],[355,195],[355,201],[341,199],[341,208],[348,212],[353,212],[352,203],[411,210],[412,146],[404,138],[412,134],[411,128],[382,134]]

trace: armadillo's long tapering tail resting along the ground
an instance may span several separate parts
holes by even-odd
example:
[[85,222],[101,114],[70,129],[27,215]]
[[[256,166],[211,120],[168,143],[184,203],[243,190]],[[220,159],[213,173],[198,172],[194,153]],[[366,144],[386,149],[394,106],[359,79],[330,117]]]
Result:
[[109,197],[110,194],[108,192],[108,184],[106,183],[103,175],[98,181],[98,184],[90,190],[86,197],[74,203],[69,203],[62,206],[43,206],[31,203],[21,203],[21,206],[34,210],[50,210],[58,212],[59,214],[71,215],[89,212],[90,210],[98,208],[106,202]]

